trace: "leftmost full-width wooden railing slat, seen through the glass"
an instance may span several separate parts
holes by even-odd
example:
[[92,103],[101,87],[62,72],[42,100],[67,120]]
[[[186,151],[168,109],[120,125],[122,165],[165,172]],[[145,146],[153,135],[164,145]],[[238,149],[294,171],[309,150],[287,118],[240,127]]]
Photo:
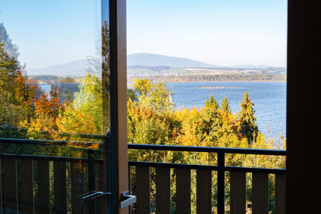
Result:
[[18,213],[17,160],[4,160],[4,201],[6,213]]

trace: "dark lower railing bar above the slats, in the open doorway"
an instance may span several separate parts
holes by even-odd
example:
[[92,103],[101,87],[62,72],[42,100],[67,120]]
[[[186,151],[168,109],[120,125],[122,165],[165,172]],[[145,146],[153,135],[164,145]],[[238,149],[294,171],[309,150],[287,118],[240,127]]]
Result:
[[178,169],[200,169],[211,171],[225,171],[225,172],[248,172],[248,173],[265,173],[265,174],[285,174],[285,169],[269,169],[256,167],[222,167],[211,165],[191,165],[191,164],[173,164],[173,163],[159,163],[159,162],[143,162],[143,161],[128,161],[128,166],[139,167],[163,167],[163,168],[178,168]]

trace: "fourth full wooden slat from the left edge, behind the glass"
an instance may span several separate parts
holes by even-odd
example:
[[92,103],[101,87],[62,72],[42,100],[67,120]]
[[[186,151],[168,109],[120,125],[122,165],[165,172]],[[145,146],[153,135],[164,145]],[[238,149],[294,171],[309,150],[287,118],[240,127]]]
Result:
[[54,162],[54,213],[67,213],[66,162]]

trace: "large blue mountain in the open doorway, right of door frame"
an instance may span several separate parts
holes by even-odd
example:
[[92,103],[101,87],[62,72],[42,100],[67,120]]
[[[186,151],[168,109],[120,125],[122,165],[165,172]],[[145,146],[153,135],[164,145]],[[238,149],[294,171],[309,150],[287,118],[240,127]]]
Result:
[[169,67],[220,67],[192,59],[175,56],[164,56],[159,54],[139,53],[127,55],[127,66],[169,66]]

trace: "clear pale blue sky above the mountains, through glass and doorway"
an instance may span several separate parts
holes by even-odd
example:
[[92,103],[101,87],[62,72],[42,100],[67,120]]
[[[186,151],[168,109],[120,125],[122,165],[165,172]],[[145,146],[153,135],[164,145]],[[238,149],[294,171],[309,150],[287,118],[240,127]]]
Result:
[[[126,10],[127,54],[286,66],[286,0],[127,0]],[[100,0],[0,0],[0,22],[27,69],[63,64],[96,56]]]

